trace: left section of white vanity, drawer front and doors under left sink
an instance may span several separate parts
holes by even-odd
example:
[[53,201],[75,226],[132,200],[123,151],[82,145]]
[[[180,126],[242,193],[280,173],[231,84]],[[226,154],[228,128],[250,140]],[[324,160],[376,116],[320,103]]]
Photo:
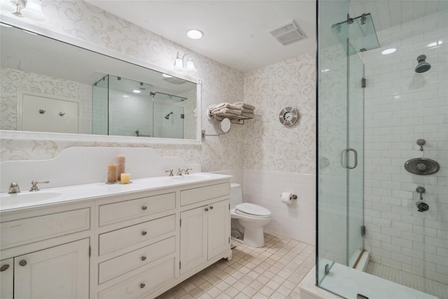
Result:
[[90,207],[6,213],[0,228],[1,298],[90,297]]

